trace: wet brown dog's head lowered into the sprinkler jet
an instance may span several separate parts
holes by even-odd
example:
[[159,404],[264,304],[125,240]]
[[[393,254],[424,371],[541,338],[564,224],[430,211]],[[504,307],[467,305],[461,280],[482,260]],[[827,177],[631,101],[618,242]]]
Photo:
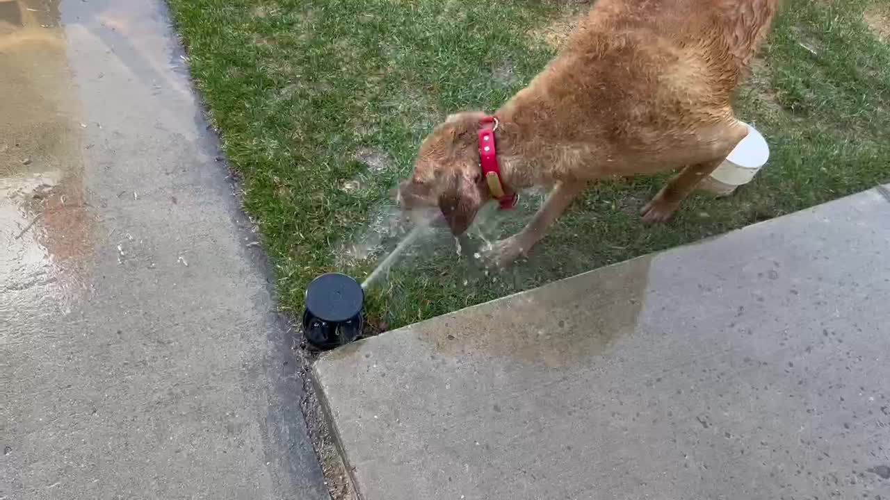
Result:
[[426,137],[414,172],[399,185],[397,200],[403,210],[426,220],[441,212],[454,235],[465,233],[490,198],[482,181],[477,139],[484,116],[481,112],[451,115]]

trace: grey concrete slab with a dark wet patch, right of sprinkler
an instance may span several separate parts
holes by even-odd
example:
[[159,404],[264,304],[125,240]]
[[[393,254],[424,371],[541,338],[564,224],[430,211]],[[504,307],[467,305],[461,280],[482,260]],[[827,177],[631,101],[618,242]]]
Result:
[[355,343],[315,383],[365,500],[890,498],[870,190]]

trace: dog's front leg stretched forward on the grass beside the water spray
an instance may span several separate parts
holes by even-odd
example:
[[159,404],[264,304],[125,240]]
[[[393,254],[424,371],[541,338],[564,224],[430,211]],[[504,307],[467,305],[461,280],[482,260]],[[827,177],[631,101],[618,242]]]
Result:
[[532,217],[522,231],[510,238],[502,239],[490,247],[486,253],[488,261],[497,267],[506,267],[520,255],[528,254],[531,247],[544,238],[547,230],[571,204],[572,200],[587,189],[587,184],[587,181],[557,183],[550,191],[544,205],[538,208],[538,213]]

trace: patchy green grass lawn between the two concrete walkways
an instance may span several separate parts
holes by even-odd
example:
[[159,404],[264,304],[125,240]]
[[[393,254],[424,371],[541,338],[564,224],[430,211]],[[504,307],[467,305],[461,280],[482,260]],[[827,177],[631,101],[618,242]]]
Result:
[[[881,0],[875,0],[881,1]],[[554,49],[536,30],[577,2],[465,0],[170,0],[247,212],[275,262],[281,305],[302,308],[321,272],[363,277],[433,124],[460,109],[497,109]],[[769,165],[732,198],[690,198],[674,222],[646,227],[637,210],[664,178],[605,181],[509,270],[475,264],[434,234],[368,298],[368,333],[399,327],[640,254],[739,228],[890,180],[890,46],[862,21],[869,0],[797,0],[775,21],[737,109],[772,148]],[[813,53],[815,52],[815,53]],[[368,165],[370,164],[370,165]],[[484,218],[489,238],[518,230],[522,210]],[[478,244],[478,238],[474,238]]]

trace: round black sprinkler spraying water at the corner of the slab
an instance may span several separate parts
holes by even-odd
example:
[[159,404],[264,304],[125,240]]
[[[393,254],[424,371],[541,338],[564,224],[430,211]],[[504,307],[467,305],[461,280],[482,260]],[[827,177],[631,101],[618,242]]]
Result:
[[312,280],[306,288],[303,335],[318,349],[351,343],[361,333],[361,304],[365,291],[345,274],[331,272]]

